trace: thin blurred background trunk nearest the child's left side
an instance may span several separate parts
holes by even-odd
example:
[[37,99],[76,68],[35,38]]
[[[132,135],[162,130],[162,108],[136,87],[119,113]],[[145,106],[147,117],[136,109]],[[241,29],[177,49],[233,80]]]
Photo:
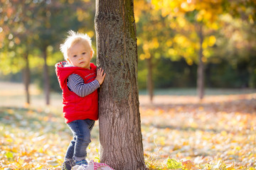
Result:
[[50,80],[48,74],[48,64],[47,64],[47,47],[43,48],[43,60],[44,60],[44,67],[43,67],[43,79],[44,79],[44,92],[46,95],[46,105],[50,105]]

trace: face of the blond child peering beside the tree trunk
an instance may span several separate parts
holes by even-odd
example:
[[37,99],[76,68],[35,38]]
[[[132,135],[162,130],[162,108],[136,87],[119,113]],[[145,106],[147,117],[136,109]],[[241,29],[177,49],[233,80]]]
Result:
[[90,60],[92,59],[92,50],[89,45],[78,42],[68,50],[68,62],[75,67],[90,69]]

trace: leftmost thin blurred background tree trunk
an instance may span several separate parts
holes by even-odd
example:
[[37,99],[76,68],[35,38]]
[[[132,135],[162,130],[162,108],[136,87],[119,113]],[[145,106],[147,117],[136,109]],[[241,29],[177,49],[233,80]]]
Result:
[[29,61],[28,61],[28,52],[27,51],[24,54],[24,60],[26,62],[26,66],[23,69],[23,84],[25,86],[26,103],[30,104],[30,94],[29,94],[30,69],[29,69]]

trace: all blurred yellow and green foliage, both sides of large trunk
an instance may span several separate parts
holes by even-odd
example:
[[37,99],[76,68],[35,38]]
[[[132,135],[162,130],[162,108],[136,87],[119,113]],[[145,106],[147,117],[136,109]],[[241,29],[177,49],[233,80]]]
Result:
[[[205,33],[206,85],[255,88],[255,5],[253,0],[135,0],[139,88],[146,88],[149,57],[156,88],[196,86],[198,25]],[[0,15],[1,80],[21,80],[28,52],[32,82],[43,84],[46,47],[50,87],[59,90],[54,64],[63,60],[59,45],[70,29],[90,35],[96,51],[95,4],[90,1],[0,0]]]

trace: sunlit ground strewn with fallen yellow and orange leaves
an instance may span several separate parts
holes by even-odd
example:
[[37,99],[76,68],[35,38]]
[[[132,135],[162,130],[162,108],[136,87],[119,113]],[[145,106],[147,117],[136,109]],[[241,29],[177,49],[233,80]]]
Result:
[[[140,97],[149,169],[256,169],[256,94]],[[98,124],[88,159],[99,159]],[[60,169],[72,138],[61,108],[0,107],[0,169]]]

